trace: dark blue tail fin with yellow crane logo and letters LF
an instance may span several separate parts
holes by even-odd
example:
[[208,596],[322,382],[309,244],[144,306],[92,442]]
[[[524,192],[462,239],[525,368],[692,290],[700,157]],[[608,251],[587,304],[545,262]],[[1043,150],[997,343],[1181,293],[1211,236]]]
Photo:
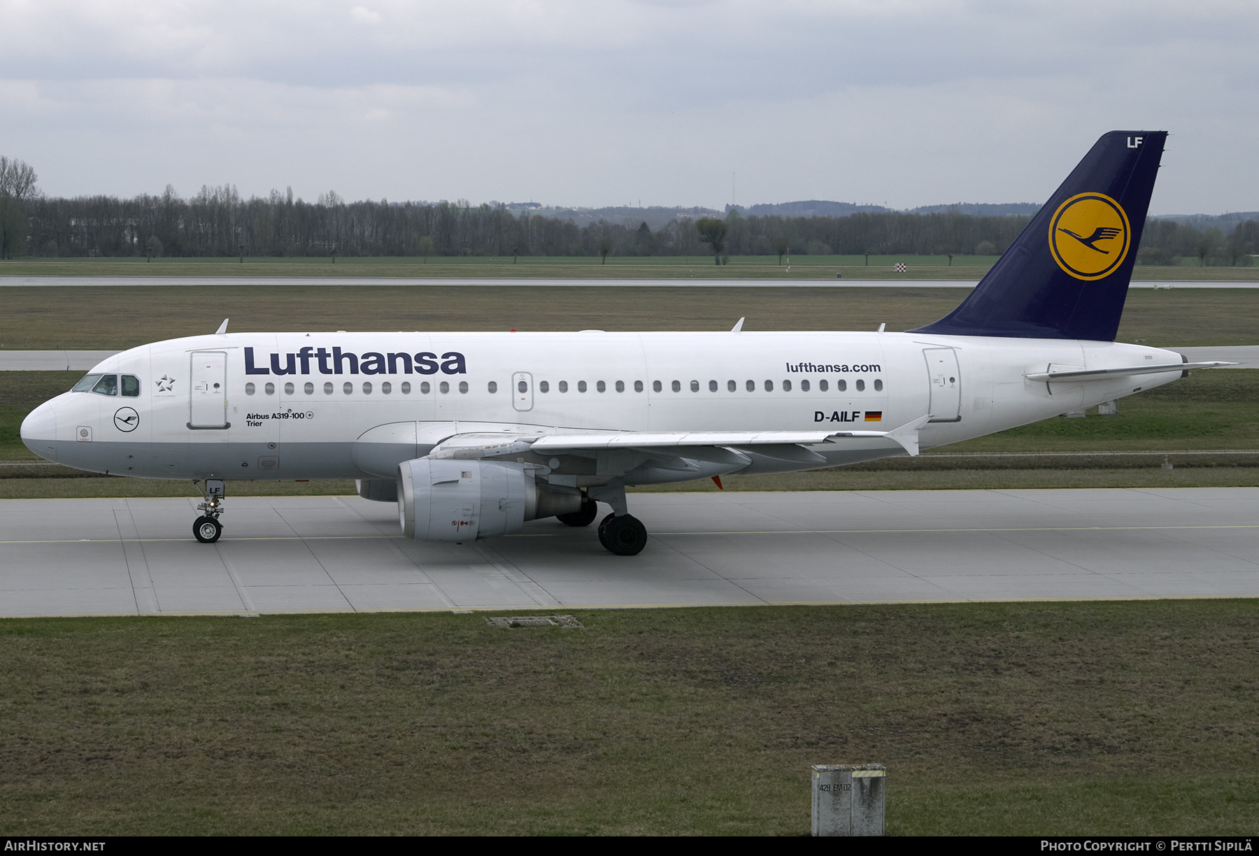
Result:
[[961,306],[909,332],[1113,341],[1166,131],[1110,131]]

